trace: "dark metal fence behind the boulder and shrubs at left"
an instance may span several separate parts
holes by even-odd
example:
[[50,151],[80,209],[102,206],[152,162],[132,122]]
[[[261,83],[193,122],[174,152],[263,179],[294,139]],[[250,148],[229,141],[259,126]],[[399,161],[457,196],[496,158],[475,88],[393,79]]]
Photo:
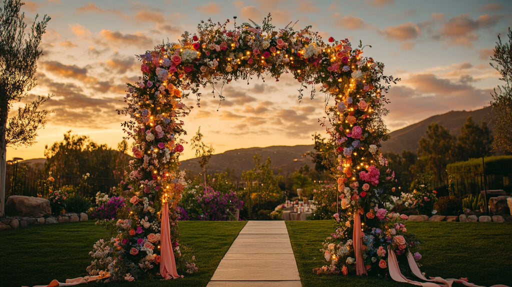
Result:
[[65,185],[71,185],[78,187],[77,192],[80,195],[94,198],[96,192],[109,192],[120,182],[114,178],[88,178],[83,182],[82,176],[66,176],[53,181],[48,178],[48,174],[41,171],[19,173],[15,168],[7,168],[6,195],[46,196],[50,189],[58,190]]

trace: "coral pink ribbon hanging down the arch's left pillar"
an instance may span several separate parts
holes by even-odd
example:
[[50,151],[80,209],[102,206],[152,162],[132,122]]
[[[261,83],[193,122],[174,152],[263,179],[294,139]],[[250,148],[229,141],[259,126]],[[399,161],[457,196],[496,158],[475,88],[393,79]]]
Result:
[[176,270],[173,244],[170,242],[169,206],[167,203],[165,203],[162,208],[162,227],[160,228],[160,234],[160,274],[165,280],[180,278],[182,276],[178,275],[178,271]]

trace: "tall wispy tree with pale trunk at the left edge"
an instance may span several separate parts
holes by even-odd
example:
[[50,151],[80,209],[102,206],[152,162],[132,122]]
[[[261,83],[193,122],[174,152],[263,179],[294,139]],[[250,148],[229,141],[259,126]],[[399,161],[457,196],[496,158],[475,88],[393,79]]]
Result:
[[[46,116],[45,113],[35,113],[44,102],[38,98],[33,104],[18,110],[16,118],[19,120],[10,122],[12,128],[8,133],[8,115],[13,101],[22,100],[37,84],[37,60],[42,55],[39,43],[50,20],[50,17],[45,15],[41,21],[37,21],[36,16],[31,29],[26,33],[25,13],[20,13],[22,5],[20,0],[4,0],[4,7],[0,8],[0,216],[4,215],[7,144],[16,143],[18,139],[19,143],[33,143],[35,129],[44,125],[44,121],[40,119]],[[25,126],[25,116],[30,114],[39,121],[31,123],[29,120],[26,132],[21,135],[13,130],[14,127]],[[10,138],[8,142],[6,135],[14,138]]]

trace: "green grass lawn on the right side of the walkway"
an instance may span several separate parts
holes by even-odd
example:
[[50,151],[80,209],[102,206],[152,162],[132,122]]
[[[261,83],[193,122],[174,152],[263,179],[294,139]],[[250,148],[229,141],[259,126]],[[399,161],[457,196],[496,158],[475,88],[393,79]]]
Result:
[[[314,275],[312,269],[326,263],[319,249],[333,231],[332,223],[332,220],[286,222],[304,287],[411,286],[375,277]],[[511,224],[408,222],[407,230],[416,233],[422,241],[421,271],[427,277],[467,277],[477,285],[512,286]]]

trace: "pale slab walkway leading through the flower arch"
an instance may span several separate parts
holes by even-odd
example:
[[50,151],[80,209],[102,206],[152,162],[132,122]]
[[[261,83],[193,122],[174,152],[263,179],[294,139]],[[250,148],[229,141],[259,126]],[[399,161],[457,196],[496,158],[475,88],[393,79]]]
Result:
[[284,221],[249,221],[207,287],[301,287]]

